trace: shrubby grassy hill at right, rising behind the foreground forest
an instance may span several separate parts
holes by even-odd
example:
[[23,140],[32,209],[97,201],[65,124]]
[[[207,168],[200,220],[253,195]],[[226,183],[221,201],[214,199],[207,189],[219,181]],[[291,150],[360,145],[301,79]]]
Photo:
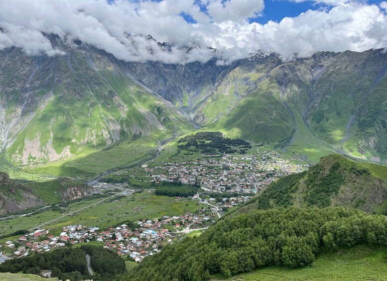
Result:
[[387,212],[387,167],[333,154],[309,171],[279,179],[256,195],[258,208],[347,206]]

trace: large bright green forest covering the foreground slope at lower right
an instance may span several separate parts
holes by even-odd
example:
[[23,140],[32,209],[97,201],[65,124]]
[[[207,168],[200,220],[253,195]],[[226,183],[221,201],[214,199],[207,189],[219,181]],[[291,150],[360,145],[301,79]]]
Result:
[[311,265],[316,254],[387,244],[387,218],[353,208],[274,208],[229,215],[198,237],[164,247],[125,280],[209,280],[255,268]]

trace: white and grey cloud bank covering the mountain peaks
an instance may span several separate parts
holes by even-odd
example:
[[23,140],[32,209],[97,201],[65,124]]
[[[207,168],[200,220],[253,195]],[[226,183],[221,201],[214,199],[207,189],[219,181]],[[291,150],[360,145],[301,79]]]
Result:
[[386,1],[314,2],[326,6],[259,24],[251,19],[264,13],[263,0],[0,0],[0,50],[64,54],[42,33],[79,39],[125,61],[180,64],[227,64],[257,50],[306,57],[387,46]]

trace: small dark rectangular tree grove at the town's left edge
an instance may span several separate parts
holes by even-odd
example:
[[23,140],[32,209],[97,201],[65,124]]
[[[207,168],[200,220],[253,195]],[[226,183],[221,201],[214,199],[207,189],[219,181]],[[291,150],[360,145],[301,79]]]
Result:
[[170,197],[189,197],[196,194],[200,188],[199,184],[195,185],[183,185],[179,181],[172,183],[161,182],[160,184],[155,184],[154,193],[157,195],[167,195]]

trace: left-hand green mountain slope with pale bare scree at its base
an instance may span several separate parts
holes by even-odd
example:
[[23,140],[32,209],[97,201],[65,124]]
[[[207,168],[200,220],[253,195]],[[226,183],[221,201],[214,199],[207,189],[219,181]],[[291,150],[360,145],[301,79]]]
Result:
[[[30,169],[90,155],[95,160],[104,149],[147,139],[149,147],[143,151],[127,152],[129,163],[131,157],[145,157],[157,142],[192,129],[172,104],[139,85],[106,55],[92,48],[67,52],[55,58],[28,57],[17,49],[0,52],[0,144],[10,165]],[[91,176],[119,166],[106,162],[98,171],[77,170],[73,163],[67,172]],[[45,170],[65,176],[58,169]]]

